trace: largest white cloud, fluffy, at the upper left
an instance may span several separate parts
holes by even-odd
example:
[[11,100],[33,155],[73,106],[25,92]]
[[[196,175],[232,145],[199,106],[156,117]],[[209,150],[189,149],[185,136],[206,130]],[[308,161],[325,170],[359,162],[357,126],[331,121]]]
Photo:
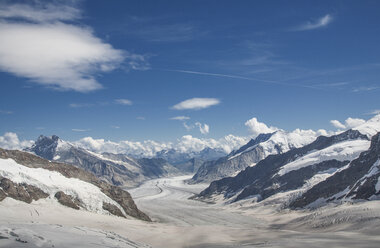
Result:
[[1,5],[0,70],[50,88],[88,92],[102,88],[98,72],[146,63],[105,43],[90,27],[63,22],[79,17],[67,5]]

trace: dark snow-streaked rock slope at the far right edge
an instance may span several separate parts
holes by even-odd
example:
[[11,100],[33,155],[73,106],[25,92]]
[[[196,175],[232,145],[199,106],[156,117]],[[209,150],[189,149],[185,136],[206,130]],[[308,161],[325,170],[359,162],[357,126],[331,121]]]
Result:
[[350,166],[315,185],[291,203],[292,208],[302,208],[318,199],[326,202],[344,200],[371,200],[379,196],[376,184],[380,177],[380,133],[372,137],[371,147],[353,160]]

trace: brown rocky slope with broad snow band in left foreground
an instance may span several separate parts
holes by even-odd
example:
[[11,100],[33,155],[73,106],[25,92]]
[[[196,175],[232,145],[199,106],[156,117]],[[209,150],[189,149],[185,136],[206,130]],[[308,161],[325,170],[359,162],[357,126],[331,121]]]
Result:
[[150,220],[127,191],[72,165],[0,148],[0,201],[46,199],[73,209]]

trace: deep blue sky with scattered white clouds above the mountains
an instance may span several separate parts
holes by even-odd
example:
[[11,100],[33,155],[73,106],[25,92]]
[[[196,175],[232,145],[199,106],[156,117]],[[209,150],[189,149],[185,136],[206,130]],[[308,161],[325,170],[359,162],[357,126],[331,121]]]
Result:
[[253,117],[334,130],[380,109],[379,1],[0,7],[0,134],[219,138]]

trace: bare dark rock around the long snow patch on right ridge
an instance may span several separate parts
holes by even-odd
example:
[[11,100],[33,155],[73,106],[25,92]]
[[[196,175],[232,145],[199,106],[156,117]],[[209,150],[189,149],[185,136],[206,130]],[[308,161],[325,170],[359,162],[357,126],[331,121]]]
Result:
[[235,201],[254,195],[259,195],[259,200],[263,200],[278,192],[296,189],[316,173],[340,168],[346,165],[348,161],[324,161],[280,176],[277,173],[282,166],[310,151],[321,150],[341,141],[353,139],[368,140],[367,136],[354,130],[348,130],[331,137],[320,136],[304,147],[295,148],[283,154],[270,155],[257,163],[256,166],[246,168],[236,177],[227,177],[212,182],[208,188],[199,194],[198,198],[207,199],[213,194],[223,194],[225,198],[231,198],[241,191],[236,196]]

